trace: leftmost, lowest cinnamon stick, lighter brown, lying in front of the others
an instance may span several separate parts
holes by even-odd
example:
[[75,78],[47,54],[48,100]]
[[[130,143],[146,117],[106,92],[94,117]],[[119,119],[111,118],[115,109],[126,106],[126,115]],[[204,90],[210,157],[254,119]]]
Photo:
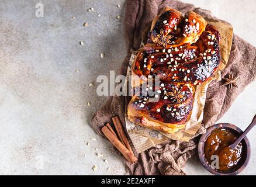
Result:
[[122,153],[124,158],[126,158],[127,161],[134,163],[137,161],[137,158],[133,155],[132,152],[130,152],[122,143],[118,140],[117,136],[112,133],[111,130],[107,126],[102,127],[102,133],[108,138],[108,140],[117,148],[117,150]]

